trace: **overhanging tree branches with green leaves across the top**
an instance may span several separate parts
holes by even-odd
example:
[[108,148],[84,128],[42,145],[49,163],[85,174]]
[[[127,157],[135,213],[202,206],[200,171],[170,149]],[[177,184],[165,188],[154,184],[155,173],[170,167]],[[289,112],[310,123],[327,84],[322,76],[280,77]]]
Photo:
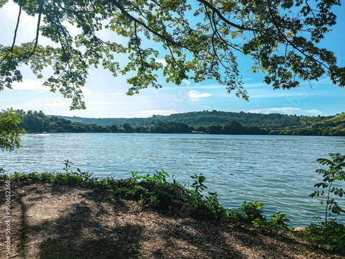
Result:
[[[0,0],[0,8],[7,0]],[[300,80],[326,75],[345,86],[345,68],[319,42],[336,23],[331,11],[339,0],[14,0],[19,6],[12,45],[0,45],[0,90],[21,81],[21,66],[38,78],[54,70],[45,85],[85,108],[81,87],[88,70],[103,66],[112,75],[130,73],[128,95],[153,86],[161,70],[166,81],[181,84],[216,79],[230,93],[248,99],[237,57],[248,55],[251,70],[266,73],[274,89],[294,88]],[[22,12],[37,17],[31,42],[18,44]],[[67,23],[80,33],[72,37]],[[126,37],[126,44],[101,39],[99,30]],[[41,37],[54,42],[39,44]],[[147,46],[147,40],[161,50]],[[155,46],[155,45],[154,45]],[[117,54],[126,54],[122,66]],[[164,57],[164,62],[158,58]],[[133,74],[134,73],[134,74]]]

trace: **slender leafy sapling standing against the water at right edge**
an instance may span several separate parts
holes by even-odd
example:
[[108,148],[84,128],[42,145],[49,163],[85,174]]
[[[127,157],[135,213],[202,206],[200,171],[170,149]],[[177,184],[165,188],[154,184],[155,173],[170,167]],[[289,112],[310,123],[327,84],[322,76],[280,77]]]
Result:
[[324,176],[324,180],[322,182],[319,182],[314,185],[314,187],[322,187],[323,189],[326,189],[325,191],[314,191],[309,195],[310,197],[315,196],[326,196],[326,202],[321,201],[320,203],[322,205],[325,205],[326,211],[325,211],[325,221],[327,222],[328,217],[331,216],[331,213],[334,213],[336,215],[339,215],[340,213],[345,213],[344,209],[339,207],[337,202],[333,198],[331,198],[331,194],[339,196],[339,198],[342,198],[343,195],[345,195],[344,189],[339,189],[333,185],[333,182],[336,180],[345,180],[345,172],[343,171],[343,167],[345,166],[345,155],[340,155],[340,153],[330,153],[329,156],[332,158],[332,160],[328,160],[326,158],[319,158],[316,161],[320,164],[329,166],[329,169],[317,169],[315,172],[320,173]]

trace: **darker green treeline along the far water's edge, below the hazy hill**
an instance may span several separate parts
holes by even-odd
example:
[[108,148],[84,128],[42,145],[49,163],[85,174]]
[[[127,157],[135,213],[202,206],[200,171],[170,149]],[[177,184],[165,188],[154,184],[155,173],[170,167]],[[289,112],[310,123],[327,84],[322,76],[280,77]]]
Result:
[[[284,126],[281,128],[260,128],[259,126],[244,126],[239,122],[230,120],[223,125],[198,125],[190,126],[184,122],[157,122],[152,125],[131,125],[129,123],[101,126],[97,124],[82,124],[71,122],[63,117],[46,116],[42,111],[17,111],[25,115],[22,119],[21,128],[28,133],[43,132],[73,132],[73,133],[199,133],[207,134],[245,134],[245,135],[319,135],[319,136],[345,136],[345,113],[337,117],[314,117],[299,116],[304,118],[303,126]],[[166,117],[166,116],[165,116]],[[290,116],[295,117],[295,116]],[[296,116],[297,117],[297,116]],[[327,118],[320,120],[322,118]]]

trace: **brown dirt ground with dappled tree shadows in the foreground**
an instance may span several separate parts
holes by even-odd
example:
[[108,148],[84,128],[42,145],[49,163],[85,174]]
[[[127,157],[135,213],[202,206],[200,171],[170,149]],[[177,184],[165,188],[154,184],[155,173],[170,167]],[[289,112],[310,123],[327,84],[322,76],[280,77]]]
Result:
[[344,258],[250,226],[142,211],[134,201],[70,186],[11,182],[6,253],[0,181],[0,258]]

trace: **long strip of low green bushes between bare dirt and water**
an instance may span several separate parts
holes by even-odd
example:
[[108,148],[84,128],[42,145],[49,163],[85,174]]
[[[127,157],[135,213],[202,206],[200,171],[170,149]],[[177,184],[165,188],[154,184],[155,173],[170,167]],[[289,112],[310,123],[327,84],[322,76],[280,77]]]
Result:
[[[142,209],[155,209],[160,212],[190,215],[192,217],[221,218],[230,221],[251,222],[256,219],[263,220],[258,229],[266,231],[288,230],[285,222],[288,222],[284,213],[278,212],[277,216],[271,214],[272,218],[280,217],[282,221],[273,220],[268,222],[262,215],[262,202],[249,202],[239,209],[229,210],[219,204],[217,193],[208,192],[205,195],[204,184],[206,178],[199,175],[190,176],[190,188],[179,184],[175,179],[169,181],[170,175],[163,169],[155,171],[152,176],[139,176],[138,172],[132,173],[128,179],[116,180],[113,177],[96,177],[92,173],[82,172],[80,169],[71,171],[72,162],[63,162],[65,167],[63,173],[13,173],[12,175],[0,174],[0,179],[32,182],[51,182],[52,184],[67,184],[72,186],[84,186],[98,191],[109,193],[121,198],[137,200]],[[286,227],[286,228],[284,228]]]

